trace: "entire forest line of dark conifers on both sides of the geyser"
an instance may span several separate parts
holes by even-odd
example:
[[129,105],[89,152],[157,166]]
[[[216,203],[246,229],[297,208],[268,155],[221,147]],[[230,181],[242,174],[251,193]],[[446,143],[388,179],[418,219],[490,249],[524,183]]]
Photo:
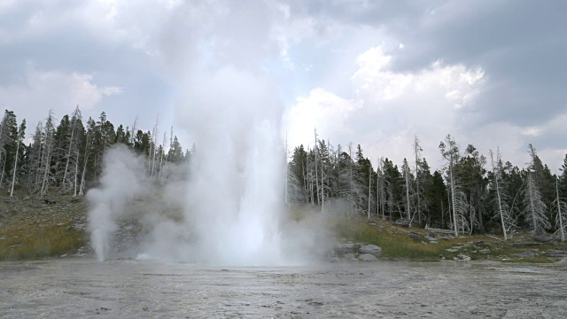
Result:
[[[27,123],[18,123],[6,110],[0,122],[0,189],[45,196],[48,191],[80,196],[97,185],[105,151],[124,144],[144,156],[147,174],[166,183],[167,167],[186,164],[192,150],[183,152],[173,128],[159,141],[159,121],[151,131],[132,125],[115,127],[106,114],[82,120],[77,106],[56,123],[50,111],[26,139]],[[167,133],[169,135],[167,136]],[[26,144],[26,141],[29,141]],[[160,142],[160,143],[159,143]],[[501,159],[499,150],[488,158],[468,144],[462,149],[448,135],[439,143],[445,165],[431,172],[420,141],[408,145],[409,159],[401,166],[380,158],[374,164],[360,144],[332,145],[317,135],[314,143],[293,149],[285,175],[285,201],[304,201],[325,212],[330,203],[345,204],[348,214],[404,220],[422,227],[453,230],[454,235],[499,230],[509,237],[516,230],[567,231],[567,154],[560,174],[552,174],[529,144],[530,162],[517,167]],[[287,148],[287,145],[286,145]],[[287,151],[286,151],[287,153]],[[287,155],[286,155],[287,158]],[[188,169],[183,169],[187,174]],[[176,176],[179,178],[179,176]]]

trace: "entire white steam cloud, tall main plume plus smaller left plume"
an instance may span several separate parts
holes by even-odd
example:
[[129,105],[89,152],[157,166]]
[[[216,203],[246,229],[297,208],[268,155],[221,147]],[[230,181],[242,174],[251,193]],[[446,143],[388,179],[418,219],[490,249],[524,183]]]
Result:
[[[285,14],[269,1],[220,7],[180,4],[159,32],[161,56],[183,87],[177,118],[197,145],[190,178],[155,187],[136,156],[121,148],[108,152],[100,187],[89,191],[99,260],[126,214],[143,225],[138,258],[276,265],[303,261],[302,248],[315,245],[311,227],[296,227],[282,214],[283,106],[276,82],[261,67],[264,58],[280,54],[270,21]],[[127,209],[141,195],[153,198],[154,211]],[[182,214],[172,218],[163,206]]]

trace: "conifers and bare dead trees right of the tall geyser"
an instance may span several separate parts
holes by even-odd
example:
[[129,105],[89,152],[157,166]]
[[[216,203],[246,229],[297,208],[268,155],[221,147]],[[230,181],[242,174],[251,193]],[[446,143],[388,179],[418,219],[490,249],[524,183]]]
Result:
[[291,152],[287,202],[304,201],[322,212],[331,202],[346,203],[350,214],[452,230],[455,236],[500,231],[508,238],[532,230],[565,239],[567,154],[555,175],[532,144],[531,160],[520,168],[501,159],[499,150],[486,158],[474,145],[462,149],[447,135],[439,143],[444,166],[431,173],[417,136],[408,145],[411,158],[400,167],[388,158],[377,159],[374,167],[360,144],[332,145],[316,129],[310,145]]

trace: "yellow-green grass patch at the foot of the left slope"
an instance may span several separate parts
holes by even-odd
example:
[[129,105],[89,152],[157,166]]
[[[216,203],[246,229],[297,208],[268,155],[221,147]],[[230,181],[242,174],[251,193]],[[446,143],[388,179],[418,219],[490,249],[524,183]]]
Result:
[[32,260],[49,256],[75,253],[85,245],[85,234],[66,226],[50,225],[30,232],[26,227],[1,230],[0,260]]

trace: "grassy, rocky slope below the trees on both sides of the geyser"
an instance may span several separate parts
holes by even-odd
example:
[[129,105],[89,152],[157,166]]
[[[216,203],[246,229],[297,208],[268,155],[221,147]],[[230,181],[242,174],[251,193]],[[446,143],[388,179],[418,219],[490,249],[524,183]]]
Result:
[[[27,260],[43,257],[59,257],[65,254],[91,252],[87,241],[87,203],[84,198],[58,196],[46,198],[28,197],[23,193],[13,198],[0,197],[0,261]],[[165,202],[155,198],[138,200],[134,210],[144,211],[151,206],[155,211]],[[299,221],[306,214],[320,214],[310,210],[311,206],[293,206],[291,219]],[[146,207],[147,208],[147,207]],[[311,207],[312,208],[312,207]],[[175,219],[174,219],[175,220]],[[529,233],[517,234],[504,242],[499,236],[463,236],[439,238],[431,242],[428,230],[416,227],[393,226],[389,221],[363,217],[325,219],[339,241],[374,244],[382,247],[383,256],[390,260],[405,261],[452,261],[459,254],[470,256],[473,261],[554,262],[548,252],[567,250],[564,243],[543,244],[535,242]],[[132,221],[131,221],[132,222]],[[136,230],[140,227],[136,227]],[[135,236],[135,234],[133,235]],[[120,243],[119,243],[120,244]],[[447,251],[448,250],[448,251]],[[532,256],[517,256],[517,253],[532,253]]]

